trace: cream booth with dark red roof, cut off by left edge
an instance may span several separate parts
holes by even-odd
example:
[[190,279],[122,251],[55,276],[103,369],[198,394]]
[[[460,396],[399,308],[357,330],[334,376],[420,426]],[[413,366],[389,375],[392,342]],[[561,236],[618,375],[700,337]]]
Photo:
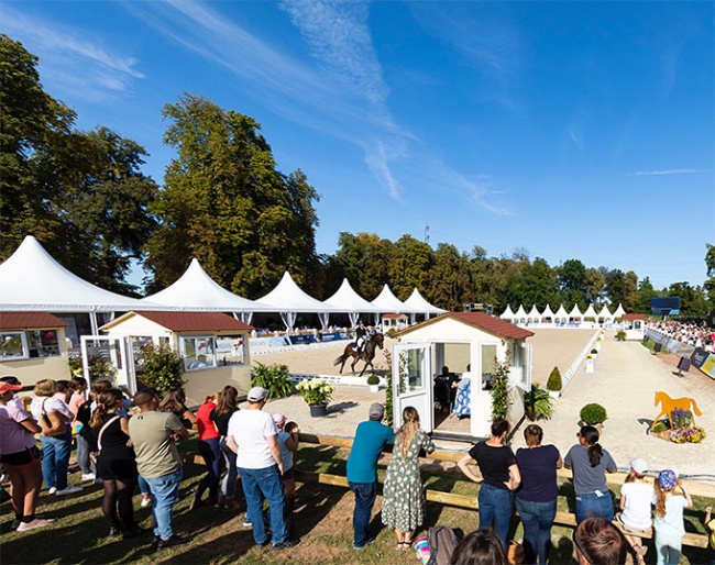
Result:
[[67,378],[68,322],[47,312],[0,313],[0,374],[24,386]]

